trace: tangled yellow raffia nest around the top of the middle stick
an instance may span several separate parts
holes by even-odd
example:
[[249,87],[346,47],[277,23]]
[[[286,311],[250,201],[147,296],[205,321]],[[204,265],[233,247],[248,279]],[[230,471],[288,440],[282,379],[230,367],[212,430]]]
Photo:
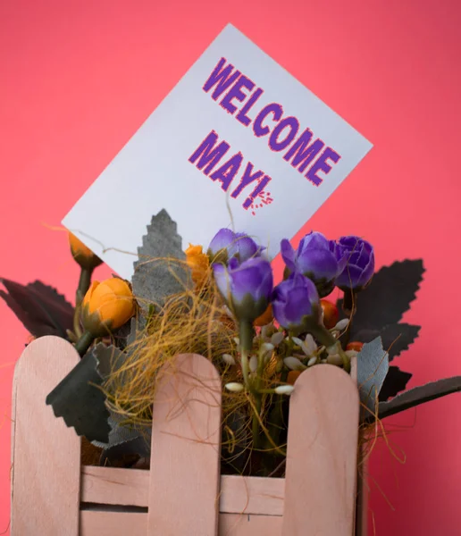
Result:
[[[180,261],[155,259],[168,263],[177,273]],[[183,263],[182,263],[183,264]],[[157,304],[142,304],[154,306]],[[122,367],[113,372],[103,389],[110,408],[121,415],[124,423],[148,426],[152,420],[159,371],[179,354],[199,354],[212,361],[222,373],[222,384],[237,381],[239,371],[223,363],[223,354],[235,355],[238,326],[222,304],[214,287],[212,270],[196,288],[184,286],[182,292],[168,297],[164,306],[150,316],[147,328],[139,332],[127,348]],[[247,406],[245,393],[223,391],[223,421],[239,406]],[[246,412],[247,413],[247,412]],[[230,438],[233,432],[229,431]],[[234,438],[233,440],[239,440]]]

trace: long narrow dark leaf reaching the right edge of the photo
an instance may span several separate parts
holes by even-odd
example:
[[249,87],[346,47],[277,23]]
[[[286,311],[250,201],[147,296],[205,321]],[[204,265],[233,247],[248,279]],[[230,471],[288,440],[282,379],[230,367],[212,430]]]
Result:
[[446,397],[451,393],[461,391],[461,376],[445,378],[444,380],[426,383],[415,389],[409,389],[401,393],[389,402],[381,402],[379,407],[379,417],[384,419],[390,415],[395,415],[405,411],[410,407],[419,406],[424,402],[435,400],[436,398]]

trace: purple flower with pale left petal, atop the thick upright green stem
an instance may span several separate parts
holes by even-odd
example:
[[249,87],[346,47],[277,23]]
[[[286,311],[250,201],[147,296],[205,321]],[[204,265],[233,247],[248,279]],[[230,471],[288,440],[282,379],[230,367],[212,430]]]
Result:
[[262,257],[243,263],[233,257],[229,264],[213,264],[214,281],[228,306],[243,322],[253,322],[264,313],[273,289],[272,267]]

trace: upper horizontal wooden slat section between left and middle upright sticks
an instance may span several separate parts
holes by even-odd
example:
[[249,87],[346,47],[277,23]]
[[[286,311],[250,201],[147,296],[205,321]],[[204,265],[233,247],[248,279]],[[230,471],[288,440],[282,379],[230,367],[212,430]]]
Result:
[[148,471],[89,465],[81,468],[82,502],[147,507],[148,497]]

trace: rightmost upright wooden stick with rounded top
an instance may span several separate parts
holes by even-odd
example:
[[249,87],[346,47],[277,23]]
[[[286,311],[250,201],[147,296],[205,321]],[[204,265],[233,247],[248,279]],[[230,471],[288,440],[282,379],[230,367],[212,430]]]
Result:
[[359,401],[354,381],[322,364],[291,396],[282,536],[351,536],[355,523]]

